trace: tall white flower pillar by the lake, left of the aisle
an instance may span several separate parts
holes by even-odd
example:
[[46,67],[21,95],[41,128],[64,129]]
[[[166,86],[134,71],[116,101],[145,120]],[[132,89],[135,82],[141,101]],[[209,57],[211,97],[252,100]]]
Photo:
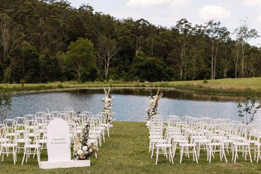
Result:
[[112,112],[113,110],[112,100],[114,99],[114,97],[111,96],[110,86],[108,87],[108,89],[104,88],[104,93],[105,93],[105,97],[102,98],[102,102],[104,102],[104,105],[102,106],[102,111],[109,114],[109,117],[106,118],[106,123],[109,123],[110,125],[113,126],[113,121],[115,120],[113,118],[113,115],[115,115],[115,112]]

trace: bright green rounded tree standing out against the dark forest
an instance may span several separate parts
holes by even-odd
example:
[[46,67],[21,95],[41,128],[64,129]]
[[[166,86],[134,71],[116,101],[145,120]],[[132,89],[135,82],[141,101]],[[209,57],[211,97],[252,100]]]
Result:
[[88,39],[78,38],[76,42],[71,42],[68,47],[66,62],[78,74],[78,80],[85,72],[95,66],[95,55],[93,44]]

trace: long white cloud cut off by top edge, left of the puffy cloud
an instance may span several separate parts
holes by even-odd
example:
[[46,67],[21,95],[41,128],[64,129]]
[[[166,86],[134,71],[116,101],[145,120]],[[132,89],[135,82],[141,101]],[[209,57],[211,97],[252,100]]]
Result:
[[148,5],[170,5],[170,6],[187,6],[191,0],[129,0],[126,6],[148,6]]

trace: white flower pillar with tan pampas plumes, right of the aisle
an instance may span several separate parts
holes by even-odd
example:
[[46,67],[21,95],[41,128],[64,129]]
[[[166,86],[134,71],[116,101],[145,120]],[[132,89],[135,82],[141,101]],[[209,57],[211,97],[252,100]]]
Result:
[[160,93],[160,94],[159,93],[160,93],[160,89],[157,91],[156,95],[153,95],[153,93],[150,89],[150,96],[149,96],[150,101],[148,102],[148,105],[150,107],[147,108],[147,114],[146,114],[148,122],[150,121],[151,116],[156,115],[157,112],[158,112],[158,101],[162,97],[162,95],[164,94],[164,93]]

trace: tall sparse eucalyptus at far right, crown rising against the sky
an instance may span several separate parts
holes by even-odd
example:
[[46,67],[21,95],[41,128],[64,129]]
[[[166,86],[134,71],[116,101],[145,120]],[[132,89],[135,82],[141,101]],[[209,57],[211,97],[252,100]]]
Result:
[[244,52],[245,48],[252,38],[259,37],[258,32],[255,29],[249,29],[249,23],[247,22],[247,17],[244,21],[240,20],[240,25],[234,30],[234,35],[236,40],[240,43],[242,48],[242,61],[241,61],[241,77],[244,78]]

